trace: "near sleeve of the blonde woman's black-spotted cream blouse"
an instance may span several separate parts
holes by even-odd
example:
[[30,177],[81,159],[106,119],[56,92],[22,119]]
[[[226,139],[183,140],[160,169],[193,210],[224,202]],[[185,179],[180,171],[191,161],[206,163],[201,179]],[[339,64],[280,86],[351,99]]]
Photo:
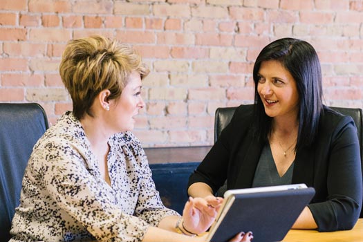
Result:
[[[86,169],[84,159],[67,140],[48,140],[33,158],[32,174],[42,177],[44,189],[57,206],[79,221],[97,241],[141,241],[149,224],[124,214]],[[50,206],[50,205],[48,205]]]

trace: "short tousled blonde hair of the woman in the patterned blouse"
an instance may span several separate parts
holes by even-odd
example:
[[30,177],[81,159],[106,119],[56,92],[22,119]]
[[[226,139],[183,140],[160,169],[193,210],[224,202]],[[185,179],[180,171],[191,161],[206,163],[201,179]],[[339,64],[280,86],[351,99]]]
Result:
[[135,50],[100,35],[68,41],[59,66],[73,101],[73,114],[79,120],[86,113],[93,116],[91,106],[102,90],[109,89],[109,100],[120,97],[133,71],[140,73],[141,79],[149,74]]

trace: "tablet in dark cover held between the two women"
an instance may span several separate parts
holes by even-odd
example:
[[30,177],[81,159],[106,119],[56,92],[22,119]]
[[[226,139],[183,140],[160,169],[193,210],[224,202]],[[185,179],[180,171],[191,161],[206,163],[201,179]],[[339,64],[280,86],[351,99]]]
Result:
[[227,190],[207,241],[252,231],[254,242],[281,241],[315,194],[305,184]]

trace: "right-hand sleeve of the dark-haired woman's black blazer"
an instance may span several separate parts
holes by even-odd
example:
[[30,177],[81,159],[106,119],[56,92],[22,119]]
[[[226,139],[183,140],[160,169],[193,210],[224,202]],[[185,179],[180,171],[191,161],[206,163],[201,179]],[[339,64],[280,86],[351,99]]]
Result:
[[[326,182],[320,183],[326,183],[326,201],[308,205],[320,232],[350,230],[362,208],[360,145],[351,117],[340,119],[330,137],[328,163],[324,165],[327,169]],[[315,169],[319,169],[319,165],[316,166]],[[315,185],[317,180],[319,176],[315,178]]]

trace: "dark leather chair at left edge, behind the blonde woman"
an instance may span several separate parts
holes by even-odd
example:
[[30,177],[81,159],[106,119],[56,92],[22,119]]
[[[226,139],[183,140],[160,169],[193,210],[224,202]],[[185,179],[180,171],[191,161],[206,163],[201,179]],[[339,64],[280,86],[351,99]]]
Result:
[[48,119],[39,104],[0,104],[0,241],[10,239],[24,169],[46,129]]

